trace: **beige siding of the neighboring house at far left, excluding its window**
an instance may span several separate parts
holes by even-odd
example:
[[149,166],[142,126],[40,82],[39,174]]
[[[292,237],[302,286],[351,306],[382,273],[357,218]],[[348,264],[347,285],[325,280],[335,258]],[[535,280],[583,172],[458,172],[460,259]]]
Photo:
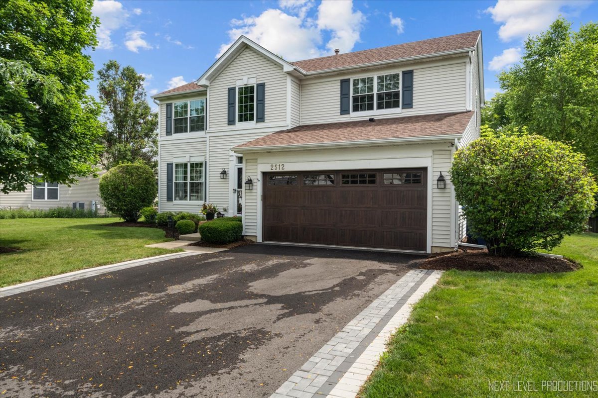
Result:
[[[99,177],[105,174],[106,171],[101,169],[98,171]],[[104,212],[99,193],[100,178],[81,177],[77,178],[78,184],[73,184],[68,187],[59,184],[59,200],[32,200],[32,186],[28,185],[25,192],[10,192],[8,194],[0,193],[0,207],[1,208],[30,208],[47,210],[56,207],[72,208],[73,202],[84,202],[85,209],[91,209],[91,201],[96,200],[100,205],[98,211]]]

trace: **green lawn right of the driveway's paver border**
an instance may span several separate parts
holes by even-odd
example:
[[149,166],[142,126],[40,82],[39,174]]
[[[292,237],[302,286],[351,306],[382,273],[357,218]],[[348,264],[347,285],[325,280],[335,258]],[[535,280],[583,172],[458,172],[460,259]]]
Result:
[[[554,252],[584,267],[444,273],[396,333],[361,396],[597,396],[542,391],[547,380],[598,384],[598,234],[570,236]],[[489,381],[511,384],[492,391]],[[539,391],[514,391],[524,386]]]

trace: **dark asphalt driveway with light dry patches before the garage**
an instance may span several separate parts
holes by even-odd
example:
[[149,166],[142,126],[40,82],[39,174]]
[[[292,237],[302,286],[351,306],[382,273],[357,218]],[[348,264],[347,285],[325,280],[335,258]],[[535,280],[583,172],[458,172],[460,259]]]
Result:
[[421,259],[249,245],[6,297],[0,397],[267,397]]

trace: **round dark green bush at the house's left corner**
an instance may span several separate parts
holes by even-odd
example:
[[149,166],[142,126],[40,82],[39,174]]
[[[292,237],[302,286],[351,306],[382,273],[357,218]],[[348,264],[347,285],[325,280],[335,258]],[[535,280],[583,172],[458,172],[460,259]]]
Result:
[[150,206],[157,194],[154,172],[142,163],[122,163],[100,178],[104,206],[125,221],[139,220],[141,209]]

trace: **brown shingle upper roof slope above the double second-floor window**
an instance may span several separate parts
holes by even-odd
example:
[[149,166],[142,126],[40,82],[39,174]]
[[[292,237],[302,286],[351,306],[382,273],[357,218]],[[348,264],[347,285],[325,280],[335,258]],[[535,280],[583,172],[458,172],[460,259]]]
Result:
[[379,61],[414,57],[416,55],[442,53],[444,51],[475,47],[480,34],[481,30],[474,30],[474,32],[459,33],[459,35],[390,45],[388,47],[373,48],[371,50],[355,51],[354,53],[329,55],[328,57],[312,58],[310,60],[291,63],[306,72],[314,72],[316,70],[356,66]]

